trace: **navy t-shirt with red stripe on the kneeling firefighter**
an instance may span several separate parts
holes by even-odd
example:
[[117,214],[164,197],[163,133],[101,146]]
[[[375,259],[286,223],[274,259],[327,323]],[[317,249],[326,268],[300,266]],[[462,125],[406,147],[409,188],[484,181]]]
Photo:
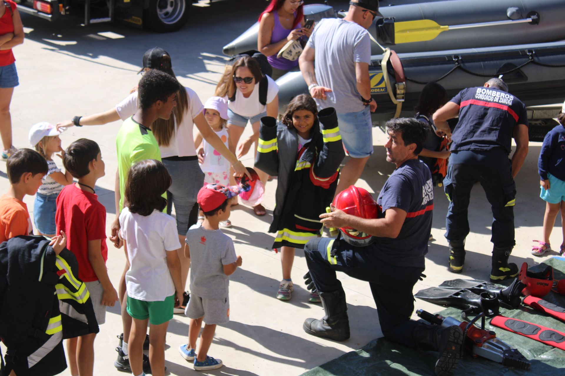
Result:
[[398,237],[379,237],[375,256],[385,263],[402,267],[424,267],[432,229],[432,174],[420,160],[409,160],[394,170],[377,198],[383,213],[391,207],[406,211]]

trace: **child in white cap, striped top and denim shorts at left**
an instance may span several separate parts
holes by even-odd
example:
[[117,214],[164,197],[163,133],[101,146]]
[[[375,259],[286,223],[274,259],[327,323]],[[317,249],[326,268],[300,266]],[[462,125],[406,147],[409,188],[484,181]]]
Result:
[[72,184],[71,174],[68,171],[63,174],[52,158],[58,152],[58,157],[62,158],[65,152],[61,147],[60,134],[54,125],[47,122],[34,124],[29,130],[29,143],[47,160],[49,167],[49,171],[41,179],[41,186],[33,203],[33,220],[38,235],[49,237],[55,236],[56,232],[55,200],[63,185]]

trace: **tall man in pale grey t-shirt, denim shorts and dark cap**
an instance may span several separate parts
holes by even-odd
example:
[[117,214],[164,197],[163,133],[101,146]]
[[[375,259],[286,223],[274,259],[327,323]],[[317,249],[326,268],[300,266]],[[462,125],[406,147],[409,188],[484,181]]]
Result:
[[371,39],[367,29],[380,15],[377,0],[353,0],[344,19],[321,20],[302,52],[299,64],[320,109],[336,109],[347,154],[336,194],[355,184],[373,153],[371,112]]

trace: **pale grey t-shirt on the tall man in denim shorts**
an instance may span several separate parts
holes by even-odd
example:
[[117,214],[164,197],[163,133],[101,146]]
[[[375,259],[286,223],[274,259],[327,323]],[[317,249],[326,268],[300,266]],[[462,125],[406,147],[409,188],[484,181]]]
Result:
[[337,113],[365,109],[357,91],[355,63],[371,65],[371,39],[362,26],[337,18],[318,22],[307,45],[315,49],[318,85],[329,87],[327,99],[316,99],[320,109],[333,107]]

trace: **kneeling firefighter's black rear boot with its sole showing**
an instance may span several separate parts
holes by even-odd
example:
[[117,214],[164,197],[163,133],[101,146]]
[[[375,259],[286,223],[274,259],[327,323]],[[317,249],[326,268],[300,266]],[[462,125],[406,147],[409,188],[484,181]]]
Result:
[[423,350],[439,353],[434,373],[446,376],[457,366],[463,346],[463,330],[459,326],[444,328],[438,325],[419,325],[414,329],[414,340]]

